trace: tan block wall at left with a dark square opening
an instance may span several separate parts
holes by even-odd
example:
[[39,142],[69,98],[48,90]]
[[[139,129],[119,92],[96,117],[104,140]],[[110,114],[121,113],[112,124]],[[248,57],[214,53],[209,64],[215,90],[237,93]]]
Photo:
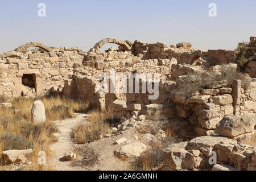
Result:
[[[5,52],[0,56],[0,94],[9,97],[35,96],[61,91],[73,69],[82,67],[79,49],[59,48],[53,52]],[[34,77],[34,85],[24,85],[24,77]],[[26,80],[25,82],[27,82]]]

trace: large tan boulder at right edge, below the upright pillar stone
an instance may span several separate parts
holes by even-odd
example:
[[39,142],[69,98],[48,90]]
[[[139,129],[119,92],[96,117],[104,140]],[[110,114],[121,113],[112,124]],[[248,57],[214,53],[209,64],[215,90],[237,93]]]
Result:
[[254,131],[255,124],[255,115],[229,116],[217,124],[215,132],[224,137],[236,137]]

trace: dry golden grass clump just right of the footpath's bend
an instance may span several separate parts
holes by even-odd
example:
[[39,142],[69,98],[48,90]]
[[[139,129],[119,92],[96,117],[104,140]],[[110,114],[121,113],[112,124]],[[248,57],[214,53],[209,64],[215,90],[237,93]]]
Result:
[[100,135],[110,128],[110,121],[113,121],[110,111],[92,111],[87,121],[90,123],[77,125],[71,137],[80,144],[94,142],[100,139]]

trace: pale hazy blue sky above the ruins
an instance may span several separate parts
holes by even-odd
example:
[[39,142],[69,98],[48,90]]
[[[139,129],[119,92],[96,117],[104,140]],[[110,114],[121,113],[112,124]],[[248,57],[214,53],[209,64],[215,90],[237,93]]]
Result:
[[[208,15],[211,2],[216,18]],[[104,38],[234,49],[256,36],[255,7],[255,0],[1,0],[0,52],[27,42],[88,51]]]

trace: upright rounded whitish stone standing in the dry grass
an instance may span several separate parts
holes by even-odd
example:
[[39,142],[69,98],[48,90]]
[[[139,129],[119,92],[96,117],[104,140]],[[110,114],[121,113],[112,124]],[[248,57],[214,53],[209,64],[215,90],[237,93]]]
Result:
[[35,101],[32,105],[31,118],[34,123],[46,122],[46,110],[42,101]]

